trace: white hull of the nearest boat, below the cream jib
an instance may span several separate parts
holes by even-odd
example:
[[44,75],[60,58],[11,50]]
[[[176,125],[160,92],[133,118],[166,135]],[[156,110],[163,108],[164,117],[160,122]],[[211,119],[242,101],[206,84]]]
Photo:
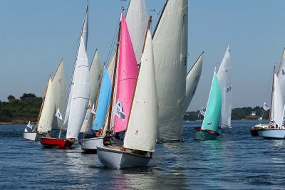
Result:
[[113,169],[128,167],[147,167],[150,157],[120,150],[122,147],[97,147],[101,164]]

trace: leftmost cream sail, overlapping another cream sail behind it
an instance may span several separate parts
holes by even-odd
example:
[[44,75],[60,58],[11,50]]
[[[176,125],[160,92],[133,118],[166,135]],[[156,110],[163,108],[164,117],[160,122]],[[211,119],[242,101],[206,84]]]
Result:
[[54,114],[56,112],[53,101],[53,86],[51,78],[48,80],[46,88],[46,97],[43,98],[43,107],[41,108],[41,116],[38,120],[38,132],[47,132],[51,130]]

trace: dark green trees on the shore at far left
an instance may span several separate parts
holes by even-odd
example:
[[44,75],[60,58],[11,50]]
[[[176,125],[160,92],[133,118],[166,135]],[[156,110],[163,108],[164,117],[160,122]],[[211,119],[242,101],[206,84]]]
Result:
[[38,112],[41,109],[41,97],[31,93],[24,93],[19,99],[13,95],[7,97],[8,102],[0,101],[0,122],[12,124],[27,123],[28,121],[36,122]]

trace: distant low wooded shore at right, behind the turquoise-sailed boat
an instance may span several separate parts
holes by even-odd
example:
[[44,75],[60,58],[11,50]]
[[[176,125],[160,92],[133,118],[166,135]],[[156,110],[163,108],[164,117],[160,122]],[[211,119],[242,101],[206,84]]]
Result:
[[[232,120],[257,120],[260,117],[262,107],[242,107],[234,108],[232,110]],[[255,112],[256,115],[252,115],[252,112]],[[184,115],[185,120],[195,121],[202,120],[204,117],[199,114],[199,110],[196,112],[186,112]],[[269,110],[265,113],[263,119],[269,119]]]

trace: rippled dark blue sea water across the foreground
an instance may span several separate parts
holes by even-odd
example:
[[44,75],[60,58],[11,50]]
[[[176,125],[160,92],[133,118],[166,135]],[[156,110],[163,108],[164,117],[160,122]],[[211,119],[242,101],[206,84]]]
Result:
[[0,189],[285,189],[285,141],[251,137],[257,121],[233,121],[218,140],[157,144],[149,167],[106,169],[97,154],[43,149],[24,125],[0,126]]

